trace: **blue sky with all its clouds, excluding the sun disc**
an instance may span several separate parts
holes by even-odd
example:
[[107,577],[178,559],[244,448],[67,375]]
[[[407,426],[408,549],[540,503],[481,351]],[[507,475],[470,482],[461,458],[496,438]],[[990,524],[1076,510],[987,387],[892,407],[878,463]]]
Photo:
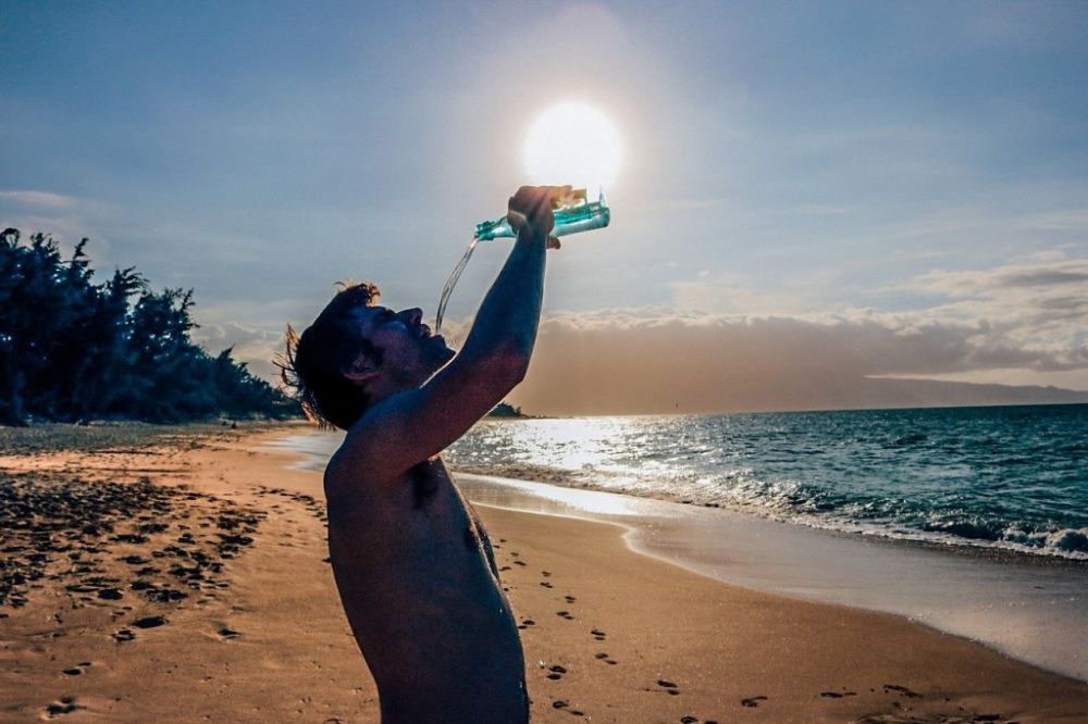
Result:
[[262,375],[337,280],[433,315],[573,101],[623,161],[549,255],[530,411],[1088,390],[1088,3],[0,0],[0,224],[195,289]]

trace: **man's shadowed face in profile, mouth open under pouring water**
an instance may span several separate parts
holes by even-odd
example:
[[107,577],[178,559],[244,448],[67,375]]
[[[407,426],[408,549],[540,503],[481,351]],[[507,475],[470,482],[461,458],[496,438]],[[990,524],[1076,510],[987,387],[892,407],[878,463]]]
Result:
[[432,335],[418,308],[394,312],[386,307],[360,307],[353,311],[359,334],[369,342],[368,354],[379,376],[369,385],[383,396],[416,388],[454,357],[441,335]]

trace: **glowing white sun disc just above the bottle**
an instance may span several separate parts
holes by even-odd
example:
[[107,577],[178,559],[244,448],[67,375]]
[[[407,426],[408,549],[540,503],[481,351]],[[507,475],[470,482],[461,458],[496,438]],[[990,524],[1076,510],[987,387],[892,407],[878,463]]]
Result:
[[526,172],[534,184],[571,184],[593,192],[616,180],[620,155],[616,127],[585,103],[549,108],[526,139]]

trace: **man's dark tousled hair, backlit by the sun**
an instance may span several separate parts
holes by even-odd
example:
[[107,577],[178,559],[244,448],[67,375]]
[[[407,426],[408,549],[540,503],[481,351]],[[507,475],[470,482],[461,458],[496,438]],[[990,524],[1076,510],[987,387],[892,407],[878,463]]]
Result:
[[[341,290],[318,319],[299,335],[287,325],[287,349],[279,361],[280,376],[310,421],[347,429],[370,407],[367,392],[344,376],[360,353],[375,350],[359,333],[351,311],[371,307],[381,291],[369,283],[341,283]],[[380,360],[379,360],[380,362]]]

